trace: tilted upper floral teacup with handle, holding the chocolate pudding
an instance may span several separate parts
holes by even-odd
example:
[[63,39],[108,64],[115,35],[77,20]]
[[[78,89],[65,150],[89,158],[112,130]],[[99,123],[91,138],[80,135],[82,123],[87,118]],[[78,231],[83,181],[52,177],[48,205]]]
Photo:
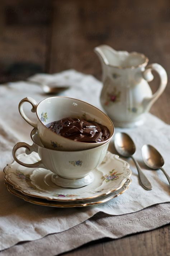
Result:
[[[31,121],[23,111],[23,103],[32,104],[32,112],[37,114],[37,122]],[[21,116],[33,127],[38,129],[39,138],[46,148],[59,151],[77,151],[91,149],[100,146],[113,137],[114,126],[110,118],[98,108],[68,97],[50,97],[41,101],[39,104],[30,97],[24,98],[19,103]],[[95,121],[100,125],[106,126],[109,130],[109,137],[98,143],[86,143],[65,138],[46,127],[47,124],[61,120],[63,118],[83,118]]]

